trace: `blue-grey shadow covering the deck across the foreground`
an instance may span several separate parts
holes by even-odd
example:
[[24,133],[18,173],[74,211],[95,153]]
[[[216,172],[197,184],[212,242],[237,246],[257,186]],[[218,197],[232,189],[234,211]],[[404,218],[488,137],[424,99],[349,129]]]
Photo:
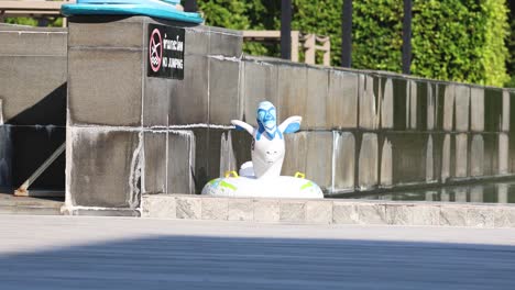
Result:
[[0,257],[2,289],[514,289],[515,247],[157,236]]

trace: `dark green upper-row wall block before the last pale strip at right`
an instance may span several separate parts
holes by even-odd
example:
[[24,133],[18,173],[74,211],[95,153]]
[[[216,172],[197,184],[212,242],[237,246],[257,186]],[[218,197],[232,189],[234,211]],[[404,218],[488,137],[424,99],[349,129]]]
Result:
[[[508,107],[509,108],[509,107]],[[503,121],[503,91],[484,89],[484,131],[500,132]]]

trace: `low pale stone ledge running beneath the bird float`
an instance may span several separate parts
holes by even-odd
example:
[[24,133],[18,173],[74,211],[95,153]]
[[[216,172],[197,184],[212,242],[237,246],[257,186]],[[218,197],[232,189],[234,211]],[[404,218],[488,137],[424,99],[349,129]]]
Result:
[[515,205],[143,194],[142,217],[298,224],[515,227]]

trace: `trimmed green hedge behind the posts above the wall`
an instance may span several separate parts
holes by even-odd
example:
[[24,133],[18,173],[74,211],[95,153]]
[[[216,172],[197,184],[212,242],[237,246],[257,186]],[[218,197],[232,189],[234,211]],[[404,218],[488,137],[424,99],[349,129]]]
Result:
[[[340,64],[342,1],[293,0],[292,27],[329,35],[335,66]],[[281,1],[199,3],[210,25],[281,27]],[[403,7],[403,0],[353,0],[352,67],[401,72]],[[515,62],[509,60],[507,48],[507,13],[506,0],[414,0],[412,72],[434,79],[505,85],[509,80],[506,63],[513,66]],[[245,44],[244,49],[256,55],[278,55],[277,46]]]

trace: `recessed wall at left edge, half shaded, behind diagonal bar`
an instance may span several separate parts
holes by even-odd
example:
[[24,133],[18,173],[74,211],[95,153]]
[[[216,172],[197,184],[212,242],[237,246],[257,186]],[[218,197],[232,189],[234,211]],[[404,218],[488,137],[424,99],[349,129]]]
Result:
[[[65,142],[63,29],[0,25],[0,188],[12,192]],[[65,156],[31,189],[63,191]]]

